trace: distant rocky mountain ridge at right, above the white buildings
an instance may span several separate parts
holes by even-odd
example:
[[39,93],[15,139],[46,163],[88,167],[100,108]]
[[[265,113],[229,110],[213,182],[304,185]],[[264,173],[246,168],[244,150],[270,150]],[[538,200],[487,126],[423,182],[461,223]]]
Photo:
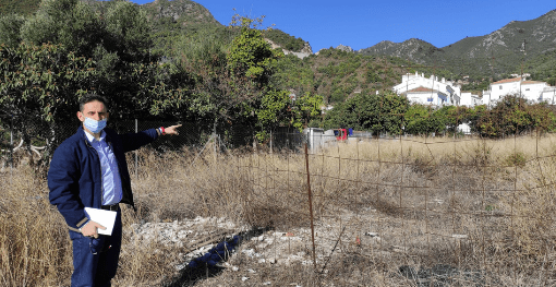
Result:
[[519,73],[522,62],[555,49],[556,10],[553,10],[537,19],[512,21],[488,35],[467,37],[442,48],[413,38],[403,43],[382,41],[358,52],[444,67],[461,76],[500,79]]

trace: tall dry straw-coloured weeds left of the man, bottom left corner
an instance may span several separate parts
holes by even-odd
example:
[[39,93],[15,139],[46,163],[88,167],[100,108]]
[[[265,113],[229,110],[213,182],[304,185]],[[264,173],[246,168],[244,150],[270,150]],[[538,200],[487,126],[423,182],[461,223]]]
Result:
[[71,247],[63,218],[47,198],[46,181],[28,166],[2,175],[0,282],[2,286],[68,283]]

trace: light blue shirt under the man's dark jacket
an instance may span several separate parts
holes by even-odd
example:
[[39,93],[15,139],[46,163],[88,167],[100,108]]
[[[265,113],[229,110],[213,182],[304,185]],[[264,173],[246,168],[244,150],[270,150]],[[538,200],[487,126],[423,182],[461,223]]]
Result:
[[[84,131],[85,132],[85,131]],[[117,204],[122,200],[122,180],[118,170],[116,156],[109,144],[106,142],[106,132],[100,132],[100,141],[85,132],[90,145],[95,147],[100,160],[100,171],[102,172],[102,205]]]

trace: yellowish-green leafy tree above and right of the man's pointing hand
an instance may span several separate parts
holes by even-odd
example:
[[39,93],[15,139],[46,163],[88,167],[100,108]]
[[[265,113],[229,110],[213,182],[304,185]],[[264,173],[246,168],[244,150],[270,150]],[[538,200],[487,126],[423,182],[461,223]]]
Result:
[[174,51],[192,80],[183,101],[188,110],[218,127],[246,127],[259,141],[279,125],[301,129],[303,120],[319,111],[315,103],[322,103],[312,94],[291,101],[291,92],[271,81],[283,53],[263,38],[262,20],[235,15],[226,29],[183,37]]

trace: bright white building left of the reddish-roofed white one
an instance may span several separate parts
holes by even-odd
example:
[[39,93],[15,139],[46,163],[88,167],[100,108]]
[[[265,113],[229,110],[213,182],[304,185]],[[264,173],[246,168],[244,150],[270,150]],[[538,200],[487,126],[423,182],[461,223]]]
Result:
[[461,101],[461,86],[446,81],[444,77],[424,74],[406,74],[401,84],[392,87],[398,95],[406,95],[410,103],[433,106],[459,106]]

